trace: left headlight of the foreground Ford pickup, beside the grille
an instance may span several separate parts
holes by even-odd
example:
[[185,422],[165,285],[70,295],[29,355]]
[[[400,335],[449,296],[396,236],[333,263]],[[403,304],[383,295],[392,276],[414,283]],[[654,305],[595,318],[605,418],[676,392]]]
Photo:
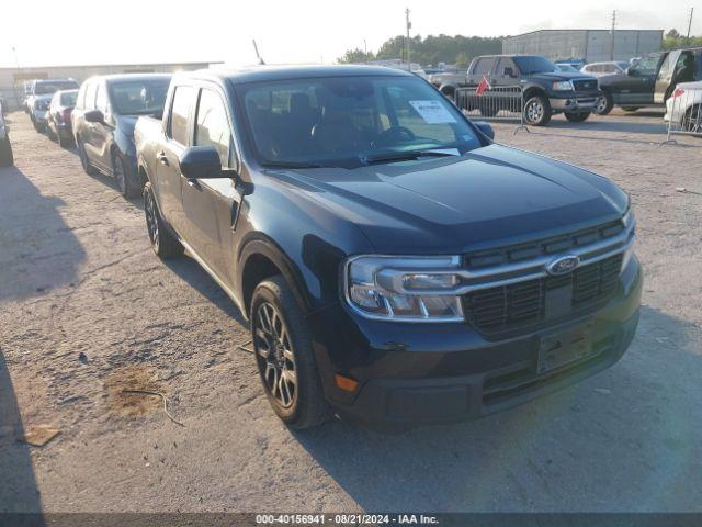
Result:
[[360,256],[346,261],[347,302],[362,316],[400,322],[463,322],[461,258]]

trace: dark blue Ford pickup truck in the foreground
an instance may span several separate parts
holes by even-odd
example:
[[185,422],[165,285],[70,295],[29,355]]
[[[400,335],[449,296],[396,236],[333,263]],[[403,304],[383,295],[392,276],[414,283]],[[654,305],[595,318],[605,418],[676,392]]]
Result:
[[613,365],[642,291],[626,194],[491,135],[388,68],[179,74],[136,125],[148,236],[239,306],[290,426],[478,417]]

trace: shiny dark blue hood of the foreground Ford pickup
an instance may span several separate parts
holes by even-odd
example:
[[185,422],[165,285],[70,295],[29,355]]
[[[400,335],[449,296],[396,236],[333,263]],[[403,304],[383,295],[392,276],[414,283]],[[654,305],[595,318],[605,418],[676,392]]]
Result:
[[495,144],[462,157],[273,173],[395,254],[520,243],[614,220],[629,202],[605,178]]

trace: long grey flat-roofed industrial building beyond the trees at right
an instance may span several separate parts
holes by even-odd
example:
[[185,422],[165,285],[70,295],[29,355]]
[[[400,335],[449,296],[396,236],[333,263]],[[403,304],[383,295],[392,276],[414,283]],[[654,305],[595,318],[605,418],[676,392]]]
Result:
[[502,53],[587,63],[629,60],[659,51],[663,30],[614,30],[613,38],[609,30],[540,30],[505,37]]

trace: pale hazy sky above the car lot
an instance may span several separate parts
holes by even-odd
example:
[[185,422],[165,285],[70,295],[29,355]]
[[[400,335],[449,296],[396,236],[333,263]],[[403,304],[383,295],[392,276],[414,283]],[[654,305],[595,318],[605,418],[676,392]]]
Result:
[[[618,27],[702,34],[701,0],[33,0],[3,1],[0,66],[146,61],[331,63],[348,48],[376,49],[404,32],[494,36],[537,29]],[[581,8],[579,8],[579,5]],[[37,13],[41,13],[37,14]]]

